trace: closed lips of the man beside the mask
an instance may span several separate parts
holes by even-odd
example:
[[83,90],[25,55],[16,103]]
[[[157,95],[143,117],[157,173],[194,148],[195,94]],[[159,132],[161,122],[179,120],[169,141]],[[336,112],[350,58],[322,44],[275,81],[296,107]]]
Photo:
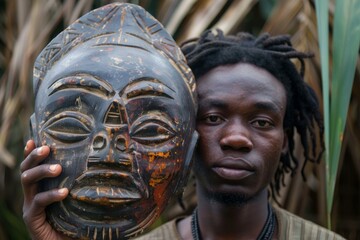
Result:
[[221,178],[239,181],[255,173],[255,166],[242,158],[223,158],[212,167]]

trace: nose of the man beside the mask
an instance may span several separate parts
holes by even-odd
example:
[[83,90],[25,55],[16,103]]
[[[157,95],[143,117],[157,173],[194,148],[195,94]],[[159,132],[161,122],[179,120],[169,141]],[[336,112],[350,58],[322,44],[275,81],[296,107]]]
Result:
[[251,151],[253,143],[247,124],[240,119],[227,122],[222,131],[220,146],[223,150]]

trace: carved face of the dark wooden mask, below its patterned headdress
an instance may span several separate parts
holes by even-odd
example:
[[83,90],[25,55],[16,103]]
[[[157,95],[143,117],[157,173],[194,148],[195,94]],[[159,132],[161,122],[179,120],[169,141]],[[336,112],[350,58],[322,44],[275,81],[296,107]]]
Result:
[[194,108],[184,79],[160,54],[77,47],[47,73],[35,109],[39,144],[50,145],[48,162],[63,168],[43,188],[70,191],[50,217],[64,231],[141,231],[184,176]]

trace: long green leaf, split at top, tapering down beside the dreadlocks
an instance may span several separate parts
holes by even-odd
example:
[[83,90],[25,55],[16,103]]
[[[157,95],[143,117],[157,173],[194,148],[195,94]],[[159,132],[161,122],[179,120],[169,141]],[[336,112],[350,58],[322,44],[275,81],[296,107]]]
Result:
[[[329,84],[328,0],[316,0],[322,64],[326,146],[326,202],[328,227],[340,152],[360,45],[360,1],[336,0],[333,31],[332,82]],[[330,86],[331,85],[331,86]],[[331,102],[329,92],[331,91]]]

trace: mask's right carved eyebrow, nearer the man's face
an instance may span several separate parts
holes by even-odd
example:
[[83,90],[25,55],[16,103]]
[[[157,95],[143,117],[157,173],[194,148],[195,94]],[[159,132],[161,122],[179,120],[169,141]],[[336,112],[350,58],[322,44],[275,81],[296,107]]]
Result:
[[175,99],[175,91],[155,78],[140,78],[131,82],[121,93],[128,100],[152,96]]

